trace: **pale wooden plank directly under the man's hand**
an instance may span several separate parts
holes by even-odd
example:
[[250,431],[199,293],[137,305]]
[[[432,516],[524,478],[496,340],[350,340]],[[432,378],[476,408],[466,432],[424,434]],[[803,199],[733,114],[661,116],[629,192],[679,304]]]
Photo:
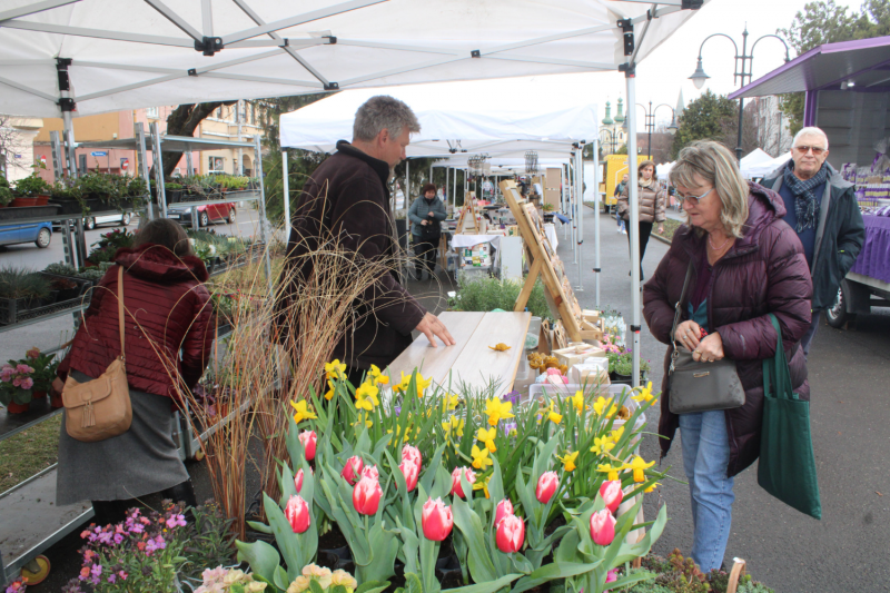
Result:
[[403,372],[408,375],[415,368],[419,368],[424,377],[432,376],[436,383],[442,383],[448,376],[448,370],[454,366],[461,352],[469,344],[483,317],[485,317],[484,312],[444,312],[439,314],[439,320],[445,324],[455,339],[454,346],[445,347],[437,342],[438,346],[434,348],[429,345],[426,336],[421,334],[389,365],[389,376],[393,382],[400,380]]

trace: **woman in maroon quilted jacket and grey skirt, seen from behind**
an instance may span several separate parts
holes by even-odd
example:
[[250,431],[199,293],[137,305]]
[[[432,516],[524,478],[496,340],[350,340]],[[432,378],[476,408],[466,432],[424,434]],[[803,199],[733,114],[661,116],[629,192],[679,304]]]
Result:
[[172,439],[174,385],[181,379],[192,388],[198,383],[214,343],[207,269],[191,254],[182,227],[169,219],[146,224],[136,246],[118,249],[115,263],[93,288],[53,385],[60,391],[69,374],[79,383],[92,380],[119,356],[118,266],[123,266],[132,424],[121,435],[83,443],[68,436],[62,422],[59,436],[56,504],[92,501],[99,523],[120,521],[132,498],[160,491],[196,504]]

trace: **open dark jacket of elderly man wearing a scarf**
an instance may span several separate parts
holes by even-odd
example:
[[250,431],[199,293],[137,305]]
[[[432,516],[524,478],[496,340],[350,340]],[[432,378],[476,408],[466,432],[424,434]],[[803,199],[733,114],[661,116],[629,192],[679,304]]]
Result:
[[[812,309],[821,310],[834,304],[838,288],[853,267],[866,243],[866,224],[856,199],[853,184],[828,167],[828,182],[819,206],[815,247],[810,273],[813,278]],[[771,172],[763,186],[777,194],[782,188],[784,167]]]

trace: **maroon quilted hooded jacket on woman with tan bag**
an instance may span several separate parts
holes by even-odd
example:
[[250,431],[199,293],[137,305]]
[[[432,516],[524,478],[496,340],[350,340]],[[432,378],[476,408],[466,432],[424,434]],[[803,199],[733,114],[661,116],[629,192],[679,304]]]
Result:
[[[178,372],[194,387],[210,360],[215,337],[204,263],[152,244],[118,249],[115,261],[123,266],[127,383],[136,391],[175,397],[170,375]],[[92,289],[71,349],[59,365],[62,380],[69,369],[99,377],[120,355],[117,294],[118,267],[111,266]]]

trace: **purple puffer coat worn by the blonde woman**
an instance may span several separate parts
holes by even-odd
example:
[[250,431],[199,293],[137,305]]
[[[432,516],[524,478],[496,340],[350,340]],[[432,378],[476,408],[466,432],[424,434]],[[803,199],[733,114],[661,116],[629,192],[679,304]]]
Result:
[[[763,418],[764,358],[775,354],[775,329],[768,314],[779,319],[782,340],[791,370],[794,392],[810,399],[807,364],[800,338],[810,326],[812,281],[803,248],[794,230],[782,220],[785,207],[772,190],[749,184],[750,214],[744,237],[738,239],[714,266],[713,283],[708,294],[708,327],[720,334],[726,358],[736,362],[745,392],[742,407],[725,411],[730,437],[730,462],[726,474],[733,476],[754,463],[760,454],[760,427]],[[689,260],[698,267],[706,238],[693,229],[680,227],[668,254],[654,276],[643,287],[643,315],[646,324],[663,344],[671,343],[674,304],[683,291]],[[686,299],[695,290],[698,270],[693,268]],[[681,320],[689,318],[682,306]],[[662,456],[668,454],[680,417],[669,409],[668,366],[671,348],[664,356],[661,419],[659,434]]]

